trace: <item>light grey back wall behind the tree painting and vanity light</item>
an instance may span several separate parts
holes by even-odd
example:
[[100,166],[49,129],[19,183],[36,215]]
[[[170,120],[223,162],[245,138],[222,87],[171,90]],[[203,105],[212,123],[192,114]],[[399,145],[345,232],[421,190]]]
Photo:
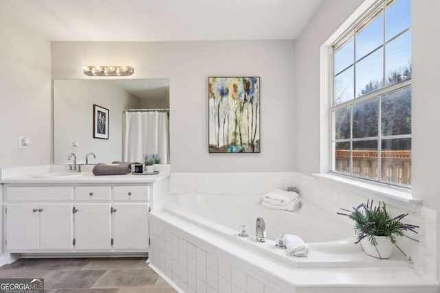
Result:
[[[131,65],[133,78],[170,78],[173,172],[282,172],[295,165],[294,44],[53,42],[52,78],[85,78],[83,65]],[[208,154],[208,77],[252,75],[261,77],[261,153]]]

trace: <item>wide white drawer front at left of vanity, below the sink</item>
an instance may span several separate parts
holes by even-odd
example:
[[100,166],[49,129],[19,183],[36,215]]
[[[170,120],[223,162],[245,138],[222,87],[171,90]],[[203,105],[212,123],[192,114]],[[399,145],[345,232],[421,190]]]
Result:
[[6,187],[8,201],[21,200],[73,200],[73,187],[42,187],[42,186],[8,186]]

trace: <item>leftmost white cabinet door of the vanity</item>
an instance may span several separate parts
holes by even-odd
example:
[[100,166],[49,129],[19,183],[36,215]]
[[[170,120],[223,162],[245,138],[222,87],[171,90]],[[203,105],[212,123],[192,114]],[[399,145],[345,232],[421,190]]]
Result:
[[8,250],[39,249],[39,204],[8,204],[7,208]]

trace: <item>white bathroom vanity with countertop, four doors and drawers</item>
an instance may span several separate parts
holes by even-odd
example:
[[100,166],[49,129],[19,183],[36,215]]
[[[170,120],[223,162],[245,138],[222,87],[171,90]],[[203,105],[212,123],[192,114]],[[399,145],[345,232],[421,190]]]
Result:
[[168,176],[47,173],[5,178],[5,251],[146,253],[148,213],[166,201]]

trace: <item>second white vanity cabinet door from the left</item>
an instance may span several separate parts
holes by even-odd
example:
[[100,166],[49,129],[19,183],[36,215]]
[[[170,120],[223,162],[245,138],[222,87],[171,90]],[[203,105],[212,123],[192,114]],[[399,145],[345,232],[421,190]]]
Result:
[[40,249],[72,249],[73,204],[40,204]]

